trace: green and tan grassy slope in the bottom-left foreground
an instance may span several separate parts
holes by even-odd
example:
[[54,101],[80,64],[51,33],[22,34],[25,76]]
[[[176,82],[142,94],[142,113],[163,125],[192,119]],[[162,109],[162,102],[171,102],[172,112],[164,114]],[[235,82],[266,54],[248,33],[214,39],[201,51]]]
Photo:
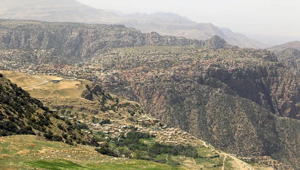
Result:
[[36,136],[0,138],[1,170],[182,170],[149,161],[98,154],[92,147],[41,141]]

